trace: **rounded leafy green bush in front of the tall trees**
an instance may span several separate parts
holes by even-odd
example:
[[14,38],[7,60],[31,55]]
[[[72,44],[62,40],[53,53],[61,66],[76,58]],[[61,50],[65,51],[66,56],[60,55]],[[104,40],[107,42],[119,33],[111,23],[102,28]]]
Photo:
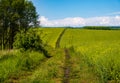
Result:
[[45,50],[40,36],[32,29],[28,30],[26,33],[21,31],[15,36],[14,48],[26,50],[35,50],[43,52],[46,57],[48,55],[47,50]]

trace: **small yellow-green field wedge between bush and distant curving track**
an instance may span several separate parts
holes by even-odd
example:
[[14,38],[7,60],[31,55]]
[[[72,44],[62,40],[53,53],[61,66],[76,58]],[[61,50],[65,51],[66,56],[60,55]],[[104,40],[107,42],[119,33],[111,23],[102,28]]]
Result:
[[37,29],[38,34],[40,34],[40,37],[41,37],[43,43],[50,45],[53,48],[55,48],[56,41],[63,30],[64,30],[64,28],[40,28],[40,29]]

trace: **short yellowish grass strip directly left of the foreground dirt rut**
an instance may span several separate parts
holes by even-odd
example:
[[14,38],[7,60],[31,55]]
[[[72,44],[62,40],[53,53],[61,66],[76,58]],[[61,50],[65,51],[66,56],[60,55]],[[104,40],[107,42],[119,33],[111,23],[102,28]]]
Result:
[[22,83],[61,83],[63,78],[64,52],[62,49],[52,51],[52,56],[39,65],[31,77]]

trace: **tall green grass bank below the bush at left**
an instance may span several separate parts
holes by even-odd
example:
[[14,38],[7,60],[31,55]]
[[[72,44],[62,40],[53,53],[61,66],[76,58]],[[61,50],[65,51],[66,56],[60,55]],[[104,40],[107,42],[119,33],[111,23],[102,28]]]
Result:
[[7,82],[9,79],[19,78],[21,71],[31,71],[45,58],[38,52],[13,51],[1,53],[0,55],[0,82]]

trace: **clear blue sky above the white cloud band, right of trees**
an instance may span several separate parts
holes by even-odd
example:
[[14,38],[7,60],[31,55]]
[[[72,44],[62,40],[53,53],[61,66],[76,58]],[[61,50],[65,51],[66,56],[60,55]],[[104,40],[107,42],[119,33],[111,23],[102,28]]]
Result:
[[[120,0],[32,0],[41,20],[120,16]],[[69,20],[70,20],[69,19]],[[118,20],[117,19],[117,20]]]

